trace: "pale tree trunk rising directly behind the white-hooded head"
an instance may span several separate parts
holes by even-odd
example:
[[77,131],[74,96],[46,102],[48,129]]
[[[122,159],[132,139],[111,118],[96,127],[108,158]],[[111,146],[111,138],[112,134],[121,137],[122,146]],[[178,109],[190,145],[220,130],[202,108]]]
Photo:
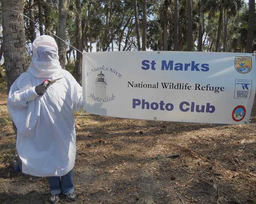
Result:
[[68,0],[59,0],[58,9],[58,30],[57,36],[61,39],[57,39],[57,45],[59,50],[59,61],[62,69],[65,69],[66,65],[66,19],[67,19],[67,2]]

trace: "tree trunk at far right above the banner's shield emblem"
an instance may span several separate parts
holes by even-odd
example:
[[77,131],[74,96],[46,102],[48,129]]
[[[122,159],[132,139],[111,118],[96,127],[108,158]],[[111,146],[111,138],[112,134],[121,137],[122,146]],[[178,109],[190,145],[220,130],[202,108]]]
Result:
[[249,20],[246,53],[252,53],[253,35],[254,35],[254,10],[255,0],[249,0]]

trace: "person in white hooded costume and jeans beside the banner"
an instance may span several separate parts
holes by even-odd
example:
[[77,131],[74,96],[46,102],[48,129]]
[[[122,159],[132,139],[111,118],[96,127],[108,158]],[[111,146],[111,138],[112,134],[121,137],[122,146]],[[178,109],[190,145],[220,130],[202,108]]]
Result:
[[[72,183],[76,159],[74,111],[83,107],[82,87],[61,68],[53,37],[37,37],[32,51],[28,70],[12,84],[7,100],[17,127],[16,148],[22,172],[48,178],[51,203],[58,202],[61,192],[71,202],[76,200]],[[42,84],[57,78],[50,86]]]

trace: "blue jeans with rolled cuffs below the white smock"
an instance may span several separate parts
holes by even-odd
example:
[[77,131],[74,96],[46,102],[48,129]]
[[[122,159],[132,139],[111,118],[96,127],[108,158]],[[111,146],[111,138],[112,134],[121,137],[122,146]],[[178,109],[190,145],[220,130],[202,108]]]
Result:
[[50,184],[51,195],[58,195],[61,192],[68,195],[74,192],[73,169],[62,177],[47,177]]

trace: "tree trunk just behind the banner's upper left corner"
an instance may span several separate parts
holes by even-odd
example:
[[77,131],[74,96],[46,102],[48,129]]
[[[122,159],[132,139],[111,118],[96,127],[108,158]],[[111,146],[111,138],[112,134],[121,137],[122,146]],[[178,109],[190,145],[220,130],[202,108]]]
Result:
[[[76,0],[76,49],[82,52],[82,16],[81,1]],[[82,53],[76,51],[76,81],[82,85]]]

